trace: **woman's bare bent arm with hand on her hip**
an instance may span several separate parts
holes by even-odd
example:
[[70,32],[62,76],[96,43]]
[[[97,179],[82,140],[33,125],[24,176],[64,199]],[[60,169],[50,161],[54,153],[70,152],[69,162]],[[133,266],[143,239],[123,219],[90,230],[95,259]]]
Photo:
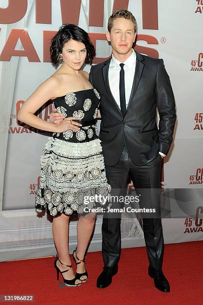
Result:
[[70,120],[75,120],[75,118],[66,118],[60,124],[55,125],[53,123],[46,122],[34,115],[34,113],[48,100],[54,97],[55,88],[58,86],[58,81],[53,77],[48,78],[43,82],[34,93],[23,103],[22,107],[18,112],[17,119],[27,125],[34,128],[48,131],[48,132],[64,132],[68,129],[77,131],[80,126],[79,123],[73,122],[74,125],[70,124]]

